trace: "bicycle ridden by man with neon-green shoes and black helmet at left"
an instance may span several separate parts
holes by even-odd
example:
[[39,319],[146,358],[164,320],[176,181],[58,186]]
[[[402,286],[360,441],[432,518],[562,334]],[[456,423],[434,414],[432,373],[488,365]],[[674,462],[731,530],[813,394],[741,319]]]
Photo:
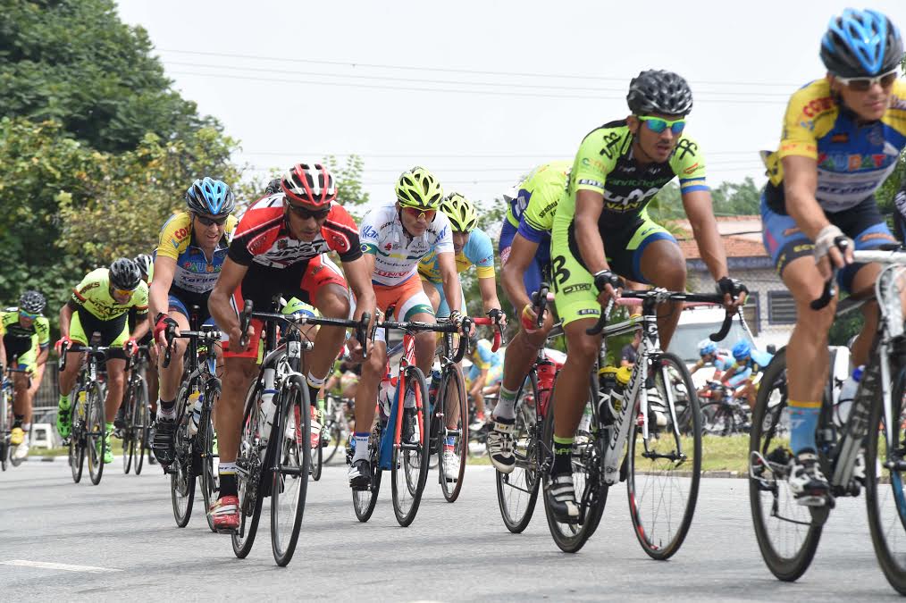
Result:
[[76,387],[70,394],[72,404],[71,432],[69,436],[69,466],[72,481],[82,481],[85,456],[88,456],[88,474],[92,483],[101,483],[104,473],[104,453],[107,450],[106,415],[104,392],[99,382],[101,364],[107,361],[108,353],[114,348],[107,346],[83,346],[63,343],[60,352],[60,371],[66,369],[69,352],[81,351],[82,368]]

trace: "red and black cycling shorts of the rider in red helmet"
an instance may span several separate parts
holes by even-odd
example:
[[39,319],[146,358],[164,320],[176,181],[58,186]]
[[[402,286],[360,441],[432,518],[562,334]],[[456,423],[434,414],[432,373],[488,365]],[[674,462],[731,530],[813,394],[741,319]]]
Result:
[[[294,263],[286,268],[273,268],[253,263],[248,268],[242,284],[233,292],[233,309],[238,316],[246,299],[252,300],[258,311],[271,311],[271,304],[276,296],[284,299],[297,298],[314,306],[318,293],[329,285],[338,285],[347,291],[346,280],[337,267],[326,255],[317,255],[310,260]],[[255,333],[248,340],[245,350],[229,350],[229,342],[224,336],[224,358],[260,358],[261,331],[263,321],[252,320]]]

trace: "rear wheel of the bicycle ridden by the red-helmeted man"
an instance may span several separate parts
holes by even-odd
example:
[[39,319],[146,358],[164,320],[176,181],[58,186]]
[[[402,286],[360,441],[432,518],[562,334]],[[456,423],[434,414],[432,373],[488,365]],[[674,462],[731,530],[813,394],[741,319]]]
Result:
[[233,532],[233,552],[245,559],[255,543],[261,504],[265,493],[261,482],[265,474],[266,449],[261,443],[260,412],[261,388],[253,385],[246,395],[246,412],[242,420],[239,451],[236,455],[236,489],[239,495],[239,529]]

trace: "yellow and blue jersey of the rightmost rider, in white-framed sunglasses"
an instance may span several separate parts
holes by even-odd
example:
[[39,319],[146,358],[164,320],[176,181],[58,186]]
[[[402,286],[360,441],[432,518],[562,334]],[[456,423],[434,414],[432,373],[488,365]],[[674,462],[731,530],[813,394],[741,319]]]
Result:
[[763,153],[769,182],[766,202],[786,214],[781,159],[790,156],[818,162],[815,198],[827,212],[840,212],[872,196],[897,166],[906,148],[906,82],[896,80],[891,106],[881,120],[860,124],[831,91],[826,78],[815,80],[790,98],[780,147]]

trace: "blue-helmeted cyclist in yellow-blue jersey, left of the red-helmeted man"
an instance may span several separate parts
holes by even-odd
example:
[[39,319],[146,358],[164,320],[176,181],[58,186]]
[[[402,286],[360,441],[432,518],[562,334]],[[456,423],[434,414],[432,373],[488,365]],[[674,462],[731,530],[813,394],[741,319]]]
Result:
[[[167,346],[169,326],[189,330],[189,308],[198,306],[198,324],[213,324],[207,298],[226,260],[227,237],[236,229],[236,199],[225,182],[205,177],[195,180],[185,195],[186,211],[170,216],[160,228],[152,267],[149,306],[154,316],[154,340]],[[151,449],[165,468],[173,462],[176,398],[182,381],[183,356],[188,342],[173,340],[168,367],[159,353],[160,386],[157,420]],[[217,350],[219,355],[219,350]],[[154,390],[152,390],[154,391]]]

